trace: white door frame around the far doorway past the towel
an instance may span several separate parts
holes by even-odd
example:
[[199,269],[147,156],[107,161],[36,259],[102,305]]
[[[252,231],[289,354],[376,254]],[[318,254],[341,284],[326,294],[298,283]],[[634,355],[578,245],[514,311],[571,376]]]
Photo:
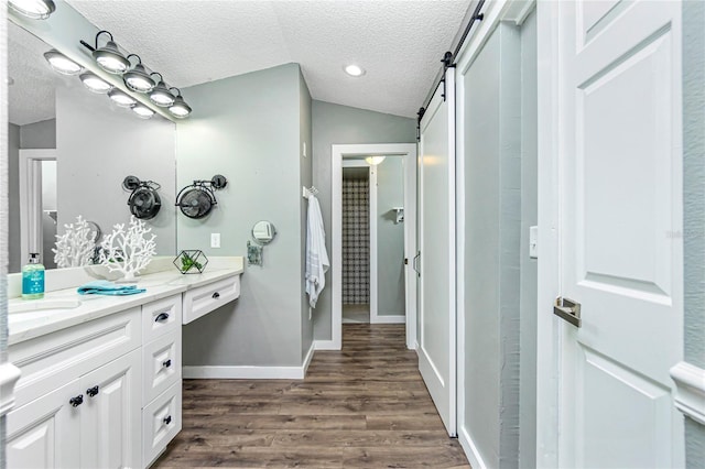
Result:
[[[340,350],[343,348],[343,157],[368,155],[395,155],[403,156],[404,159],[404,255],[409,259],[409,263],[405,265],[404,272],[404,279],[406,281],[406,291],[404,295],[406,299],[406,348],[413,349],[416,342],[416,276],[411,262],[411,258],[413,258],[413,255],[410,254],[415,254],[416,252],[416,144],[335,144],[332,145],[330,154],[333,156],[330,164],[333,215],[333,257],[330,259],[333,277],[330,320],[332,340],[329,347],[326,347],[325,349]],[[370,244],[372,243],[370,242]],[[371,282],[372,275],[370,272],[370,283]],[[371,290],[372,285],[370,285],[370,294]]]

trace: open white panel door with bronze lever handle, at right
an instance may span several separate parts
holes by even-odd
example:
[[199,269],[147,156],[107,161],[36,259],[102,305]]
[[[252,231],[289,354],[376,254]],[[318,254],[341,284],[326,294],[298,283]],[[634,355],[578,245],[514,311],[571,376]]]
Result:
[[560,467],[683,466],[679,3],[558,7]]

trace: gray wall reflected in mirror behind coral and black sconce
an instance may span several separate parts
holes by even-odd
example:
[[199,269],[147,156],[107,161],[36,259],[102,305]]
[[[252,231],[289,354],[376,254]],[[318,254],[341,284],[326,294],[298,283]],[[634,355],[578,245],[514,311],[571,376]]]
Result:
[[162,208],[147,225],[156,234],[158,254],[174,255],[174,123],[159,116],[139,119],[105,96],[88,92],[80,81],[74,85],[56,88],[58,233],[78,215],[96,221],[104,233],[128,222],[130,194],[122,179],[133,175],[162,185]]

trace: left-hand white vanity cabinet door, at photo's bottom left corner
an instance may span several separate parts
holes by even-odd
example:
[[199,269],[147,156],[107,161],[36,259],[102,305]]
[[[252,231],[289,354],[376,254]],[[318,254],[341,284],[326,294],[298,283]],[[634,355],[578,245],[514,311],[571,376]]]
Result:
[[74,380],[8,414],[9,468],[79,467],[83,405],[74,407],[69,403],[80,394],[79,389],[78,380]]

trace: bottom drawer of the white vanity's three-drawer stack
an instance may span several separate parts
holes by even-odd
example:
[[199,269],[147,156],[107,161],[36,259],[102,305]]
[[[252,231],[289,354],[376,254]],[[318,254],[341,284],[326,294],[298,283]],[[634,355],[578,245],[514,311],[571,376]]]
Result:
[[149,467],[181,432],[181,380],[142,410],[142,467]]

